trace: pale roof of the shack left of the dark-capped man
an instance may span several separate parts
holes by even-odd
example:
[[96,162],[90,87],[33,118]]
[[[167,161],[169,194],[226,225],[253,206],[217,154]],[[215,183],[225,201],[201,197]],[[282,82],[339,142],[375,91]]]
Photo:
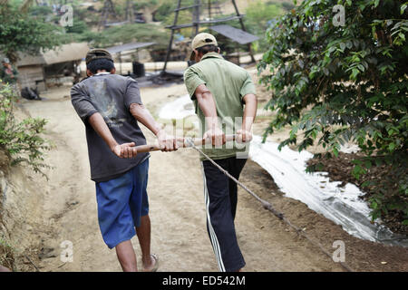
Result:
[[20,60],[17,62],[17,66],[80,61],[86,56],[88,50],[87,43],[69,43],[63,44],[52,51],[40,53],[40,55],[21,53],[19,54]]

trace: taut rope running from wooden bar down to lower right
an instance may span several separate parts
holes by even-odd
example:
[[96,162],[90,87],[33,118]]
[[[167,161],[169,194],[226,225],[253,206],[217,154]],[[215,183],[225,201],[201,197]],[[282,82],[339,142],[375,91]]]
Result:
[[[324,254],[325,256],[328,256],[332,261],[333,261],[333,256],[325,249],[325,247],[323,247],[319,242],[313,240],[312,238],[308,237],[305,233],[304,230],[302,230],[299,227],[296,227],[295,225],[293,225],[289,219],[287,219],[283,213],[279,212],[276,208],[274,208],[269,202],[267,202],[267,200],[259,198],[257,196],[257,194],[255,192],[253,192],[251,189],[248,189],[247,186],[245,186],[243,183],[241,183],[240,181],[238,181],[238,179],[234,178],[232,175],[229,174],[229,172],[226,169],[223,169],[222,167],[219,166],[219,164],[217,164],[214,160],[212,160],[211,158],[209,158],[209,156],[204,153],[202,150],[200,150],[196,145],[194,145],[194,142],[190,139],[187,139],[187,143],[189,144],[189,146],[191,148],[193,148],[194,150],[199,151],[200,154],[202,154],[207,160],[209,160],[209,162],[211,162],[215,167],[217,167],[222,173],[224,173],[229,179],[232,179],[235,183],[238,184],[238,186],[240,186],[242,189],[246,190],[251,196],[253,196],[254,198],[256,198],[261,204],[262,206],[269,210],[270,212],[272,212],[274,214],[275,217],[279,218],[280,220],[282,220],[284,223],[287,224],[287,226],[292,227],[297,235],[300,235],[302,237],[305,237],[312,245],[314,245],[315,247],[318,247]],[[348,272],[355,272],[350,266],[348,266],[347,264],[345,264],[345,262],[338,262],[341,266],[343,266],[343,268],[345,268],[345,270],[347,270]]]

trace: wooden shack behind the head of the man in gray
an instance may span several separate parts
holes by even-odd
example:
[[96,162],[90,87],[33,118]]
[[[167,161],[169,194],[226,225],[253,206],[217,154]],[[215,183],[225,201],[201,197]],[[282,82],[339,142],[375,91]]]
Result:
[[79,65],[88,50],[87,43],[69,43],[39,55],[21,53],[16,63],[20,87],[36,87],[39,92],[44,92],[47,81],[55,82],[79,73]]

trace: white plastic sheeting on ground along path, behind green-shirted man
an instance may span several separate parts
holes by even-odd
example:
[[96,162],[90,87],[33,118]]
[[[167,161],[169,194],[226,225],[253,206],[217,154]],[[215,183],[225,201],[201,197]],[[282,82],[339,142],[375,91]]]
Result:
[[[194,113],[189,95],[185,95],[162,107],[159,116],[161,119],[177,120]],[[341,225],[352,236],[408,247],[408,238],[394,235],[387,227],[370,222],[370,208],[359,198],[364,193],[355,185],[347,183],[344,188],[339,188],[341,182],[330,182],[326,172],[306,173],[306,161],[313,154],[296,152],[287,147],[279,151],[277,147],[277,143],[262,143],[261,137],[254,136],[249,158],[267,170],[288,198],[302,201],[325,218]]]

